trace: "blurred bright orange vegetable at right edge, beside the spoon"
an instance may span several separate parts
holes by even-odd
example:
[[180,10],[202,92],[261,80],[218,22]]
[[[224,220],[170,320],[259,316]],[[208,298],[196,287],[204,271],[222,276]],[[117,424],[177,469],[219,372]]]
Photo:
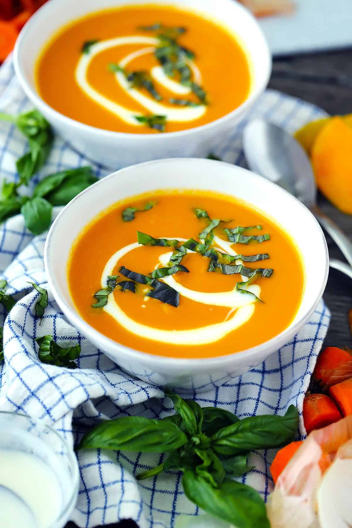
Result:
[[352,129],[331,118],[312,148],[312,165],[320,191],[344,213],[352,214]]

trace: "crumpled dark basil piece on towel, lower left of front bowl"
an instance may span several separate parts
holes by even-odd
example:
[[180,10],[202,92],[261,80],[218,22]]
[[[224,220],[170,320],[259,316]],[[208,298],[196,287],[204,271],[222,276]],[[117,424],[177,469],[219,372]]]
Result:
[[49,363],[55,366],[64,366],[68,369],[77,369],[78,365],[74,362],[81,353],[80,345],[69,346],[63,348],[55,341],[52,335],[44,335],[37,337],[36,341],[39,345],[38,357],[42,363]]

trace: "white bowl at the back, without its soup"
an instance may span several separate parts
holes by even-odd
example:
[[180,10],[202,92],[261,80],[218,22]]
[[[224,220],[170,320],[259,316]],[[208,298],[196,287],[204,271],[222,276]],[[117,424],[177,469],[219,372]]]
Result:
[[[153,0],[153,4],[174,5],[206,13],[235,33],[248,55],[252,86],[249,97],[230,114],[188,130],[163,134],[126,134],[84,125],[60,114],[38,95],[34,82],[36,59],[45,43],[60,27],[87,13],[145,0],[51,0],[24,26],[14,50],[15,71],[28,98],[56,132],[85,156],[117,169],[149,159],[174,156],[205,157],[214,140],[229,135],[268,84],[271,55],[264,35],[254,17],[233,0]],[[229,65],[231,67],[231,64]],[[60,68],[60,65],[58,65]]]

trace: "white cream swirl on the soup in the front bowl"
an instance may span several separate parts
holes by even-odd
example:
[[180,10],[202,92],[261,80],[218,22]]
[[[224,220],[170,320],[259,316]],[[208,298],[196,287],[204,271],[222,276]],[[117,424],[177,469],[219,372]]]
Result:
[[[165,237],[166,238],[166,237]],[[178,239],[179,241],[185,241],[185,239]],[[101,276],[101,286],[105,287],[107,284],[108,275],[112,275],[112,272],[116,266],[116,263],[127,253],[138,248],[140,244],[134,242],[119,249],[114,253],[108,262],[106,263],[102,276]],[[187,252],[194,251],[187,250]],[[164,265],[169,262],[172,252],[168,251],[162,253],[159,256],[159,263]],[[159,266],[159,265],[158,265]],[[172,276],[164,277],[164,282],[169,284],[169,279],[173,279]],[[175,284],[174,284],[175,283]],[[215,323],[212,325],[206,325],[199,328],[192,328],[189,330],[161,330],[159,328],[150,327],[138,323],[134,319],[131,319],[128,315],[121,310],[118,306],[115,297],[113,295],[108,296],[108,303],[103,307],[103,310],[111,315],[121,326],[125,327],[128,331],[149,340],[159,341],[162,343],[175,342],[179,345],[203,345],[208,343],[214,343],[215,341],[220,340],[225,335],[232,332],[234,329],[239,328],[244,323],[246,323],[254,313],[254,300],[251,296],[243,295],[236,292],[235,290],[219,293],[204,293],[201,291],[195,291],[184,286],[180,285],[178,282],[173,279],[171,283],[172,287],[175,288],[179,293],[195,300],[196,302],[215,305],[215,306],[229,306],[233,309],[236,309],[233,317],[229,317],[230,313],[227,314],[226,319],[221,323]],[[170,284],[169,284],[170,285]],[[260,286],[250,285],[247,288],[249,291],[254,293],[259,297],[260,295]],[[236,294],[236,295],[235,295]],[[149,297],[145,297],[149,300]],[[231,299],[231,303],[230,303]]]

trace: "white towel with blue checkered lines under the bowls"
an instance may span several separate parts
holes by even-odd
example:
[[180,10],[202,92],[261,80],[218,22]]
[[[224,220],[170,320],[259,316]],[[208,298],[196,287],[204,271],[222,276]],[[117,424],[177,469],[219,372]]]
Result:
[[[0,111],[18,114],[31,109],[9,59],[0,69]],[[248,119],[264,117],[289,130],[324,115],[322,110],[282,93],[265,92]],[[232,136],[214,144],[214,153],[227,162],[244,165],[241,150],[242,121]],[[16,181],[15,160],[27,146],[14,126],[0,122],[0,174]],[[59,137],[55,138],[49,161],[33,184],[46,174],[90,163]],[[116,168],[119,168],[117,155]],[[107,171],[94,165],[99,176]],[[37,293],[27,281],[46,285],[43,266],[45,233],[32,237],[21,216],[0,225],[0,272],[8,281],[8,293],[18,302],[4,323],[5,361],[0,364],[0,410],[30,414],[55,427],[69,442],[77,440],[84,426],[97,419],[138,414],[160,418],[172,404],[162,390],[122,372],[96,347],[66,322],[49,291],[49,307],[41,326],[35,318]],[[30,293],[28,293],[30,291]],[[3,318],[3,315],[1,315]],[[195,395],[201,406],[219,406],[240,418],[252,414],[283,413],[290,403],[302,409],[303,395],[329,324],[330,314],[321,301],[310,321],[293,341],[272,354],[261,365],[232,382],[208,393]],[[34,338],[54,336],[61,345],[80,343],[79,369],[44,365],[39,362]],[[243,477],[267,498],[272,487],[269,465],[273,453],[253,454],[256,469]],[[196,515],[180,485],[180,474],[169,472],[141,483],[134,474],[160,464],[163,455],[129,452],[84,452],[79,454],[80,491],[72,520],[91,527],[134,519],[140,528],[173,528],[182,515]],[[251,464],[252,465],[252,464]]]

